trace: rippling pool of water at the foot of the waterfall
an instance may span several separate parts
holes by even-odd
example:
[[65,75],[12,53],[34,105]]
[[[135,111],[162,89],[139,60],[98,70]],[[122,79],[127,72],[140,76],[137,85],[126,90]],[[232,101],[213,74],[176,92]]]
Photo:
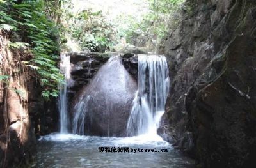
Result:
[[[99,147],[108,146],[157,152],[99,153]],[[117,138],[50,134],[39,139],[37,150],[36,167],[193,167],[193,161],[168,142],[148,135]]]

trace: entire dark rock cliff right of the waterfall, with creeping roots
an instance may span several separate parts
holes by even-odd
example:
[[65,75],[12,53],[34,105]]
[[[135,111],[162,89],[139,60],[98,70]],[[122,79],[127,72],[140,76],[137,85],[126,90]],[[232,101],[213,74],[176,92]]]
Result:
[[256,1],[194,0],[160,51],[170,96],[159,134],[198,167],[256,164]]

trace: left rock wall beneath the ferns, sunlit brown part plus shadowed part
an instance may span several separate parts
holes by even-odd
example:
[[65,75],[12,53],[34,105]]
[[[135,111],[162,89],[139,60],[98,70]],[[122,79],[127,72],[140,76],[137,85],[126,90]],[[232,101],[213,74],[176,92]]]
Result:
[[[0,167],[29,165],[35,159],[36,136],[56,131],[56,102],[43,100],[35,72],[22,65],[26,54],[6,49],[0,34]],[[3,71],[2,71],[3,70]],[[51,102],[51,103],[50,103]]]

